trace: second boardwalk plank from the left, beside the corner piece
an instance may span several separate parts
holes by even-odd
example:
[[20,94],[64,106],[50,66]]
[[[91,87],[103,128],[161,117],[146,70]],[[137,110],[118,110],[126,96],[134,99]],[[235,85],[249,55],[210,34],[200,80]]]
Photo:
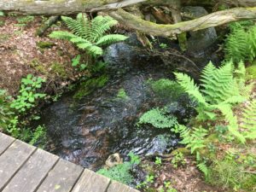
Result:
[[36,148],[16,140],[0,156],[0,191],[15,175]]

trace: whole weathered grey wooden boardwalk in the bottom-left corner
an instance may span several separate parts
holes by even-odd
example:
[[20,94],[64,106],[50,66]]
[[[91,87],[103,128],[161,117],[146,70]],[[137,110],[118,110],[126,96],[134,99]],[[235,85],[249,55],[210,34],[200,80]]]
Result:
[[138,192],[2,133],[0,191]]

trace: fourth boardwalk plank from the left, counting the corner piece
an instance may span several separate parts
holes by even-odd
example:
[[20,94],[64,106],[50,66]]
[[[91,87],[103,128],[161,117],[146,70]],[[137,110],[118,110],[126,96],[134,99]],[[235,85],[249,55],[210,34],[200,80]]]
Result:
[[76,166],[67,160],[59,160],[37,192],[69,192],[79,180],[83,170],[81,166]]

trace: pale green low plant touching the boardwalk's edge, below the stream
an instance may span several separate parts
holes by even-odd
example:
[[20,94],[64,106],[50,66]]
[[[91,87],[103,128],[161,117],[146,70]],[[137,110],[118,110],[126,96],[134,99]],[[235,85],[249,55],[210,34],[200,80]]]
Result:
[[128,155],[131,158],[130,161],[124,162],[117,166],[110,167],[109,169],[102,168],[97,173],[102,174],[106,177],[109,177],[113,180],[119,181],[121,183],[131,184],[131,182],[134,179],[130,173],[131,166],[133,166],[135,164],[139,164],[140,159],[135,154],[130,153]]

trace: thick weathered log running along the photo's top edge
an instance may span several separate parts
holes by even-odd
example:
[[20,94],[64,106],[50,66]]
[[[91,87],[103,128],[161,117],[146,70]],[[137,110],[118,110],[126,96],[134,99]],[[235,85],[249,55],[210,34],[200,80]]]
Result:
[[[80,12],[119,9],[143,3],[146,5],[172,6],[176,0],[0,0],[0,10],[15,11],[26,15],[69,15]],[[180,0],[182,6],[208,6],[217,3],[239,7],[256,7],[255,0]]]

